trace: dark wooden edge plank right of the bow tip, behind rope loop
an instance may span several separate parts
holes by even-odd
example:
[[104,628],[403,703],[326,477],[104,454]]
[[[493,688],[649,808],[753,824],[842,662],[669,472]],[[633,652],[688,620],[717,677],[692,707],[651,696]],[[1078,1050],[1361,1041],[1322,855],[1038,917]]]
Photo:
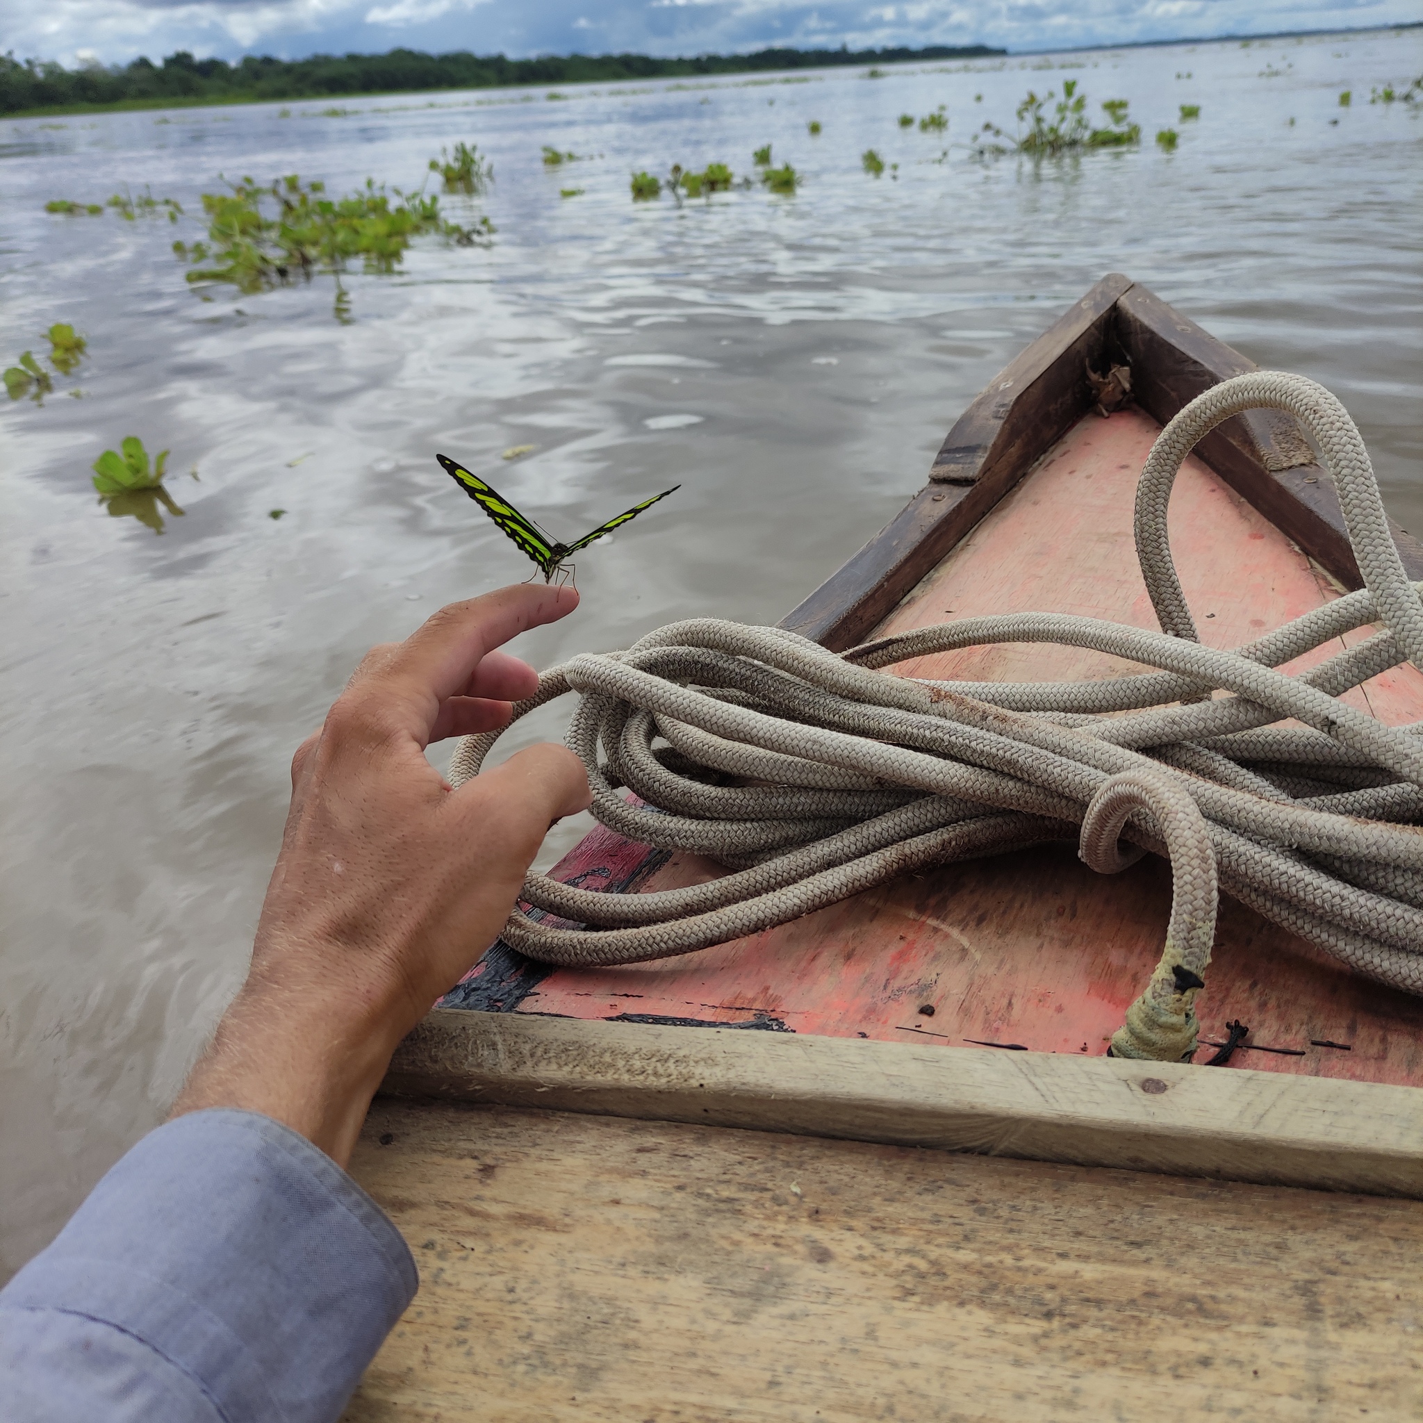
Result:
[[[1131,361],[1133,398],[1161,424],[1202,390],[1257,369],[1140,285],[1117,302],[1116,334]],[[1198,453],[1346,588],[1362,586],[1339,497],[1292,416],[1237,416],[1211,431]],[[1423,579],[1423,544],[1396,524],[1392,528],[1409,576]]]

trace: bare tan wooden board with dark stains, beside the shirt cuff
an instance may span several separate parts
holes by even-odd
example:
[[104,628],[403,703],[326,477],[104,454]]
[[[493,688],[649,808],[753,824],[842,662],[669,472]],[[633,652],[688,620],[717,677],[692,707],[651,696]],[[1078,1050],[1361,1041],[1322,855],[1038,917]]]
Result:
[[421,1286],[346,1423],[1423,1414],[1413,1201],[393,1101],[351,1170]]

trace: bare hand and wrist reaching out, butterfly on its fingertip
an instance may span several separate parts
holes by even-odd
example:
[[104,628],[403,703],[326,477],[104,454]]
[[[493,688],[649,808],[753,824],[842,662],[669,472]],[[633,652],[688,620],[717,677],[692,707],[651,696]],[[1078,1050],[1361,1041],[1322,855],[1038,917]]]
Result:
[[497,649],[578,606],[521,583],[373,649],[292,761],[292,808],[252,969],[172,1109],[240,1107],[342,1165],[396,1044],[498,936],[582,763],[532,746],[453,791],[425,760],[491,731],[538,675]]

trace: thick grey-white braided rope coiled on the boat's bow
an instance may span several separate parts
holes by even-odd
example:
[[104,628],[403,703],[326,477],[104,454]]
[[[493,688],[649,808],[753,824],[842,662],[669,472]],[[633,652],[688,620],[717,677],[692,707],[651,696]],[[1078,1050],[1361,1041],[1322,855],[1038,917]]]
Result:
[[[1197,441],[1252,408],[1286,410],[1313,437],[1365,588],[1221,652],[1200,643],[1167,502]],[[1423,585],[1399,559],[1353,421],[1301,376],[1215,386],[1157,438],[1137,485],[1136,545],[1161,632],[1010,613],[835,655],[781,628],[693,619],[545,672],[515,719],[579,693],[566,741],[588,768],[593,815],[731,872],[628,895],[531,875],[527,904],[589,928],[515,908],[504,939],[546,963],[638,963],[785,924],[925,865],[1076,840],[1106,874],[1148,850],[1171,862],[1165,949],[1111,1040],[1116,1056],[1195,1050],[1220,888],[1360,973],[1423,993],[1423,830],[1412,824],[1423,815],[1423,737],[1339,700],[1403,660],[1423,669]],[[1373,622],[1385,630],[1308,672],[1276,670]],[[1158,670],[1077,683],[875,670],[1007,642]],[[1303,727],[1275,724],[1286,719]],[[478,773],[499,734],[461,741],[454,784]],[[1136,850],[1123,854],[1120,840]]]

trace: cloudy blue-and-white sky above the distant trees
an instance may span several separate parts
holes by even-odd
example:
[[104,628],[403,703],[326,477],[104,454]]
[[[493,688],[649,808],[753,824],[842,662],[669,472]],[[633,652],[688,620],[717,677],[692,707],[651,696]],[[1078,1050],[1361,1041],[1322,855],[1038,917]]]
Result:
[[993,44],[1012,51],[1362,28],[1417,0],[0,0],[0,53],[65,64],[191,50],[734,54],[766,46]]

